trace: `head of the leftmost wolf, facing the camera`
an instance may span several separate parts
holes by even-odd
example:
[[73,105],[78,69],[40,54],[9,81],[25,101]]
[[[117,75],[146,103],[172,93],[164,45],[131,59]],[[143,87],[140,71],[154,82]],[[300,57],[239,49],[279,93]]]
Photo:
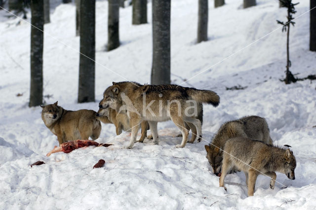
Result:
[[58,101],[54,104],[48,104],[46,106],[40,105],[42,108],[41,116],[46,126],[49,126],[56,122],[62,115],[62,108],[57,105]]

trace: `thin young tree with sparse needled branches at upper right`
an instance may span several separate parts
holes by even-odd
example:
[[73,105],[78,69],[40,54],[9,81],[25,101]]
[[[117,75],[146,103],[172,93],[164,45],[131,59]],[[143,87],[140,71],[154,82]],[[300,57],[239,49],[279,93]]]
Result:
[[284,7],[287,8],[287,22],[283,23],[279,20],[277,20],[276,22],[278,24],[283,25],[282,27],[282,32],[285,31],[287,32],[287,39],[286,39],[286,77],[284,79],[285,84],[290,84],[291,82],[295,83],[297,81],[296,78],[294,78],[292,72],[289,70],[291,67],[291,61],[290,61],[290,56],[289,56],[289,36],[290,36],[290,24],[293,25],[295,22],[293,22],[292,20],[294,19],[294,17],[292,16],[292,14],[295,14],[295,8],[294,6],[297,5],[298,3],[292,3],[292,0],[279,0]]

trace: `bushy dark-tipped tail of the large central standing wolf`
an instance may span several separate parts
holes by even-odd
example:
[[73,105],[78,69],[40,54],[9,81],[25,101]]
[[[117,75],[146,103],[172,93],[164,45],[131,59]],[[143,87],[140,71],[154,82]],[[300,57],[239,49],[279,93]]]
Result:
[[187,90],[187,93],[197,102],[212,104],[214,107],[217,107],[219,104],[219,96],[212,90],[190,88]]

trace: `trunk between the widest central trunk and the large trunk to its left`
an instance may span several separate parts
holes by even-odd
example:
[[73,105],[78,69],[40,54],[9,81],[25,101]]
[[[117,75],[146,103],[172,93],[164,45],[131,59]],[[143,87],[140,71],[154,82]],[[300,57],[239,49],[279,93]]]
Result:
[[108,0],[108,2],[109,2],[108,51],[110,51],[119,46],[119,33],[118,33],[119,3],[117,0]]

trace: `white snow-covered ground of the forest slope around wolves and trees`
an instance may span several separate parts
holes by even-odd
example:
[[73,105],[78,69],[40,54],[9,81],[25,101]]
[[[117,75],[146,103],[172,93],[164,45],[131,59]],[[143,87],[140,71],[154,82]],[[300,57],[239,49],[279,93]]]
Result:
[[[210,0],[209,41],[196,44],[197,1],[172,0],[172,82],[182,84],[199,74],[182,85],[211,89],[221,97],[217,108],[204,105],[206,141],[175,148],[181,142],[181,137],[175,137],[179,131],[172,122],[165,122],[158,124],[158,145],[146,139],[127,150],[123,146],[129,133],[116,136],[114,125],[103,124],[97,142],[114,146],[50,157],[45,154],[58,144],[56,136],[44,126],[41,108],[28,107],[30,26],[6,19],[0,11],[0,209],[315,209],[316,82],[285,85],[279,81],[285,75],[286,36],[281,29],[274,30],[280,27],[276,20],[285,20],[285,8],[278,8],[276,0],[258,0],[257,6],[247,9],[241,9],[241,3],[226,0],[214,9]],[[298,17],[309,10],[309,1],[296,7],[294,16]],[[149,83],[150,2],[149,24],[132,26],[131,7],[120,9],[121,46],[106,52],[107,1],[97,1],[95,103],[76,103],[79,37],[75,37],[75,6],[62,4],[51,12],[51,23],[44,27],[44,95],[52,95],[44,98],[46,103],[58,100],[65,109],[97,110],[112,81]],[[290,34],[291,71],[303,78],[316,74],[316,53],[308,46],[309,13],[295,22]],[[226,90],[235,85],[246,88]],[[296,179],[280,173],[276,178],[287,188],[276,183],[271,190],[269,178],[259,176],[254,196],[247,197],[242,172],[226,176],[227,192],[219,187],[204,145],[221,124],[246,115],[266,118],[274,144],[292,146]],[[93,169],[99,159],[106,161],[105,166]],[[36,161],[46,164],[31,168]]]

